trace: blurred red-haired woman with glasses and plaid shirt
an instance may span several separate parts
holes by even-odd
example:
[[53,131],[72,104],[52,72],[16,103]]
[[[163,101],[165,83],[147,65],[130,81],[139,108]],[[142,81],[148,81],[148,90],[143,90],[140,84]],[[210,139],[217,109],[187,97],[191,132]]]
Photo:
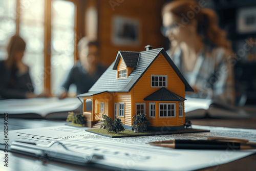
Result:
[[217,14],[196,1],[172,1],[162,9],[162,33],[170,57],[196,93],[190,97],[234,103],[230,42]]

